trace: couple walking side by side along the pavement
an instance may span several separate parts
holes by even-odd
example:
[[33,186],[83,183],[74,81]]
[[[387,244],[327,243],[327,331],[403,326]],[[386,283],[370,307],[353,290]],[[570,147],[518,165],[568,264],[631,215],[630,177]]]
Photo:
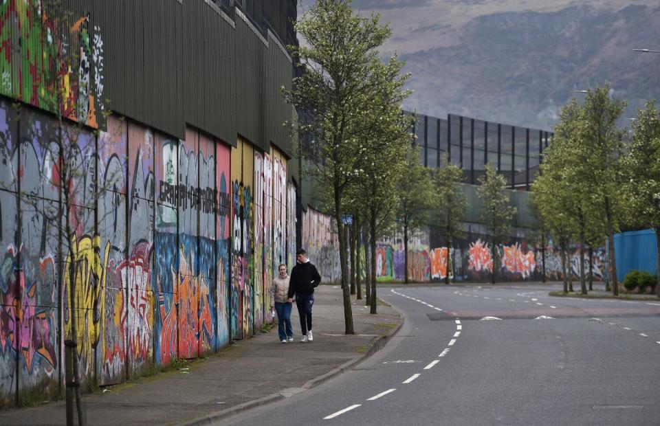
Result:
[[309,262],[303,249],[296,251],[296,266],[291,270],[291,276],[287,274],[287,265],[281,263],[277,269],[279,275],[270,288],[270,304],[273,306],[274,302],[280,341],[294,341],[294,330],[291,327],[291,308],[294,300],[298,306],[300,329],[303,333],[300,342],[314,340],[311,334],[311,308],[314,306],[314,289],[321,282],[321,276]]

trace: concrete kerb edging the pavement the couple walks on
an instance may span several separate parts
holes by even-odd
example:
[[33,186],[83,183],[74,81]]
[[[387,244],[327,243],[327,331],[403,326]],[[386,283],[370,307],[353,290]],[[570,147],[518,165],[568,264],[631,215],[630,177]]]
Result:
[[[379,300],[380,300],[380,298],[379,298]],[[383,302],[383,301],[381,300],[381,302]],[[302,388],[304,390],[309,390],[311,388],[315,388],[316,386],[320,385],[321,383],[325,383],[326,381],[329,381],[333,377],[336,377],[338,374],[340,374],[340,373],[344,372],[345,370],[348,370],[349,368],[355,366],[355,364],[358,364],[358,363],[364,361],[365,359],[371,357],[371,355],[375,354],[376,352],[378,352],[379,350],[384,348],[384,346],[387,344],[387,342],[390,340],[390,338],[393,335],[397,334],[399,332],[399,330],[401,329],[401,326],[404,325],[404,318],[405,318],[403,313],[401,311],[399,311],[399,309],[395,308],[395,306],[393,306],[393,305],[389,305],[389,306],[391,306],[391,308],[394,309],[395,311],[397,311],[397,313],[399,314],[399,323],[393,329],[392,333],[389,333],[388,335],[382,335],[382,336],[379,336],[379,337],[374,337],[369,342],[369,345],[367,346],[367,349],[364,351],[364,354],[343,363],[341,366],[339,366],[337,368],[333,368],[333,370],[330,370],[327,373],[321,374],[319,377],[316,377],[314,379],[311,379],[311,380],[307,381],[307,383],[305,383],[302,386]],[[215,423],[215,422],[217,422],[217,421],[219,421],[223,418],[234,416],[235,414],[245,412],[245,411],[250,410],[252,408],[262,407],[263,405],[267,405],[267,404],[270,404],[270,403],[281,401],[281,400],[287,398],[287,396],[283,395],[281,392],[283,392],[283,391],[276,392],[276,393],[268,395],[268,396],[264,396],[263,398],[260,398],[260,399],[255,399],[253,401],[248,401],[248,402],[236,405],[234,407],[227,408],[226,410],[221,410],[219,412],[214,412],[214,413],[211,413],[211,414],[207,414],[206,416],[195,418],[193,420],[186,421],[184,423],[178,423],[178,425],[179,426],[212,425],[213,423]]]

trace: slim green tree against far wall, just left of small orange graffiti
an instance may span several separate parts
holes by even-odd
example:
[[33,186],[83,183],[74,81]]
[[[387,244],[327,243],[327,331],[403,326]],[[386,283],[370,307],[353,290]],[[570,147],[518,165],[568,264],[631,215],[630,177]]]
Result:
[[419,163],[419,149],[411,147],[405,161],[406,172],[401,173],[397,183],[397,222],[404,231],[404,281],[408,284],[408,240],[428,225],[434,188],[428,169]]

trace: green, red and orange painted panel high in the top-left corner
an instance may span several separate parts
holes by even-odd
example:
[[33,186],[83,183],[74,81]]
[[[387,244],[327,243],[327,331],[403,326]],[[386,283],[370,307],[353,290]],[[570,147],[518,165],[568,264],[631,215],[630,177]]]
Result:
[[96,128],[105,111],[102,31],[89,14],[66,20],[68,28],[40,0],[0,3],[0,94]]

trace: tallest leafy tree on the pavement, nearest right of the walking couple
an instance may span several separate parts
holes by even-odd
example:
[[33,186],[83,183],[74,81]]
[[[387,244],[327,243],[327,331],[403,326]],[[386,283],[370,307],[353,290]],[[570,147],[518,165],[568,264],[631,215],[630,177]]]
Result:
[[360,135],[377,117],[365,117],[364,104],[374,88],[388,81],[375,78],[384,66],[377,47],[391,36],[379,16],[362,18],[351,10],[350,0],[318,0],[294,24],[307,44],[289,46],[303,68],[294,78],[287,101],[309,120],[300,133],[314,141],[303,151],[313,164],[317,181],[333,196],[334,217],[338,227],[345,333],[354,334],[347,262],[347,240],[342,225],[342,197],[347,187],[360,179],[364,168]]

